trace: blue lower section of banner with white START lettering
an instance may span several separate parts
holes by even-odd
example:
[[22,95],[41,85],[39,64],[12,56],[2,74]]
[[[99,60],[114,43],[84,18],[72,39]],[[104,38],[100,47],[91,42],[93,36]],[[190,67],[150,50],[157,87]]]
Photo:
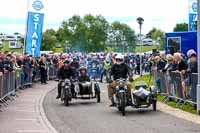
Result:
[[28,12],[25,53],[40,56],[44,14]]

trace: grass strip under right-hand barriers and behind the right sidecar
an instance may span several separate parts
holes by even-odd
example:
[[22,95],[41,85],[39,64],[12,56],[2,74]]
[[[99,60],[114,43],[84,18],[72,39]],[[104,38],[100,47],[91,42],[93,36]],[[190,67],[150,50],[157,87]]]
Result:
[[[151,79],[151,80],[150,80]],[[150,75],[144,75],[142,77],[139,77],[137,78],[133,83],[132,83],[132,87],[134,88],[135,87],[135,83],[136,82],[140,82],[140,81],[144,81],[147,83],[147,86],[148,88],[151,86],[151,85],[154,85],[155,86],[155,82],[154,82],[154,79],[153,77],[150,78]],[[162,101],[164,99],[164,96],[158,96],[158,101]],[[181,106],[176,106],[176,101],[167,101],[165,104],[167,104],[168,106],[171,106],[173,108],[177,108],[177,109],[180,109],[180,110],[183,110],[183,111],[186,111],[186,112],[189,112],[189,113],[192,113],[192,114],[196,114],[197,111],[192,107],[192,105],[190,104],[185,104],[183,107]]]

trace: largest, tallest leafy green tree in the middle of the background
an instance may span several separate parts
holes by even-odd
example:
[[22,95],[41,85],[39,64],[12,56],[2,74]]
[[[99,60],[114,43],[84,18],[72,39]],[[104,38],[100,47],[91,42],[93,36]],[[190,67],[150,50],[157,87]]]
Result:
[[59,41],[67,40],[74,51],[97,52],[106,49],[109,23],[103,16],[74,15],[63,21],[57,32]]

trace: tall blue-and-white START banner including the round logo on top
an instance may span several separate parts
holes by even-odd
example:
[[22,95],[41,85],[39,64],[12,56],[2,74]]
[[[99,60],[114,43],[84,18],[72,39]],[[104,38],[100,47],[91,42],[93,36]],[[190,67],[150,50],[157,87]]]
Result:
[[42,28],[44,21],[44,5],[42,0],[29,0],[24,53],[40,56]]

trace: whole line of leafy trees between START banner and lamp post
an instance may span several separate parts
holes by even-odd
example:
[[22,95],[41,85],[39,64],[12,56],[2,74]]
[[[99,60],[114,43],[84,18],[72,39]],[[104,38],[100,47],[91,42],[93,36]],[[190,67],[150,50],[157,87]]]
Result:
[[[109,23],[103,16],[74,15],[64,20],[57,31],[48,29],[43,33],[42,50],[100,52],[106,50],[134,49],[137,41],[135,31],[127,24]],[[120,51],[122,52],[122,51]]]

